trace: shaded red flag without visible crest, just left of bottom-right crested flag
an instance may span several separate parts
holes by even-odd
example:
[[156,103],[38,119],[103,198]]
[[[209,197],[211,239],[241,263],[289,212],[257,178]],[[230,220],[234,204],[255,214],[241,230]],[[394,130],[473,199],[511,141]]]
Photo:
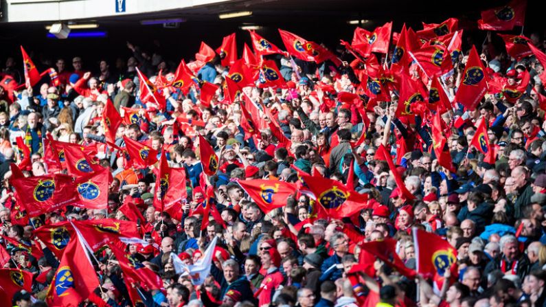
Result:
[[[406,267],[404,262],[398,257],[396,253],[396,240],[391,238],[386,238],[383,241],[372,241],[365,242],[360,245],[363,251],[372,253],[379,260],[382,260],[388,266],[391,266],[393,269],[396,269],[400,274],[413,279],[416,277],[416,271]],[[364,255],[365,256],[365,255]],[[360,264],[365,264],[362,262],[365,260],[363,258],[359,259]],[[373,262],[372,262],[373,264]]]

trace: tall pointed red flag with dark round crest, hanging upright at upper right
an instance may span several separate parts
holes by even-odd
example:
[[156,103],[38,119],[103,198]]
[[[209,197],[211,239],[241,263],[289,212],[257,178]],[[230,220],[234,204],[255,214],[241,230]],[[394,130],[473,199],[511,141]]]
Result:
[[475,46],[472,46],[470,50],[462,78],[455,94],[455,101],[464,105],[468,110],[474,110],[487,91],[486,70],[481,64]]

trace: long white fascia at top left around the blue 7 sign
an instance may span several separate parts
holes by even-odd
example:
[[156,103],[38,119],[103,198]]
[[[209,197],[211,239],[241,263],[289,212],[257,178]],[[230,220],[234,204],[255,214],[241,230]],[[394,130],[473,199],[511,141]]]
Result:
[[[4,22],[71,21],[192,8],[231,0],[6,0]],[[124,2],[125,12],[116,11]]]

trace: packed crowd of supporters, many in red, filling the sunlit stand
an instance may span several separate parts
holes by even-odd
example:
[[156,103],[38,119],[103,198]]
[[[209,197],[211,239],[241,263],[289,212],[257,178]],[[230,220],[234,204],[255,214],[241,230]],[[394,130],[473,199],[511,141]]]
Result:
[[[456,99],[471,68],[466,64],[472,45],[463,43],[452,69],[436,78],[449,106],[433,106],[431,97],[425,97],[425,111],[402,107],[412,112],[400,115],[400,105],[413,103],[400,100],[406,78],[430,88],[435,77],[423,74],[415,59],[402,68],[402,78],[394,76],[390,59],[400,51],[398,39],[387,54],[366,58],[339,46],[336,59],[319,64],[285,53],[265,55],[279,67],[273,71],[284,79],[279,87],[260,86],[269,72],[258,52],[245,49],[244,65],[258,68],[254,86],[242,87],[236,97],[226,85],[233,66],[219,55],[201,65],[188,63],[197,69],[187,91],[168,84],[179,76],[176,64],[161,52],[130,43],[128,60],[118,60],[115,68],[107,60],[93,67],[79,56],[71,65],[57,58],[49,61],[55,73],[34,86],[25,84],[28,71],[14,60],[17,56],[8,58],[0,87],[0,261],[9,272],[32,273],[32,281],[21,282],[24,289],[8,297],[0,294],[0,299],[19,307],[58,302],[52,293],[62,293],[58,273],[68,260],[38,236],[43,227],[55,229],[67,220],[123,220],[150,244],[124,242],[122,255],[135,268],[145,267],[159,277],[161,286],[150,288],[129,276],[120,253],[104,242],[97,250],[87,247],[100,287],[81,297],[81,306],[546,306],[541,59],[530,54],[516,60],[488,34],[483,45],[475,45],[488,75],[508,86],[527,84],[516,98],[489,90],[469,108]],[[530,42],[544,52],[541,34],[531,34]],[[371,58],[380,64],[375,66]],[[383,87],[387,99],[371,94],[372,70],[395,80]],[[149,84],[141,74],[150,77]],[[14,88],[10,82],[24,85]],[[207,99],[205,82],[215,89]],[[144,91],[149,92],[146,99]],[[124,119],[111,141],[110,121],[105,120],[109,106]],[[482,124],[486,135],[479,138]],[[442,137],[447,158],[442,148],[437,150]],[[13,164],[30,159],[21,167],[27,178],[52,174],[48,139],[78,144],[83,152],[95,148],[86,152],[87,159],[111,173],[108,191],[101,191],[108,193],[104,208],[67,203],[28,216],[30,209],[25,210],[27,204],[17,194],[32,191],[14,188],[19,175]],[[159,162],[144,168],[128,165],[122,150],[126,139],[157,150]],[[210,161],[205,166],[199,139],[216,154],[212,175],[203,170]],[[30,157],[24,157],[25,146]],[[155,183],[163,155],[170,168],[185,169],[185,191],[184,199],[161,211],[155,203],[161,189]],[[306,174],[365,196],[367,201],[359,204],[363,209],[352,216],[323,214],[332,209],[325,203],[331,205],[338,196],[329,194],[323,202],[324,196],[302,181]],[[255,179],[298,188],[286,199],[273,194],[284,205],[266,208],[240,185]],[[214,208],[204,214],[209,205]],[[127,208],[134,209],[132,214]],[[454,251],[454,269],[440,278],[409,277],[379,256],[363,255],[369,253],[363,250],[365,243],[394,239],[396,254],[390,258],[419,272],[419,249],[433,247],[418,246],[412,229],[446,240]],[[54,244],[65,240],[55,234],[51,230]],[[177,269],[178,260],[200,264],[214,238],[212,265],[203,282]],[[10,280],[3,276],[0,288],[5,290]],[[69,276],[75,284],[80,277]]]

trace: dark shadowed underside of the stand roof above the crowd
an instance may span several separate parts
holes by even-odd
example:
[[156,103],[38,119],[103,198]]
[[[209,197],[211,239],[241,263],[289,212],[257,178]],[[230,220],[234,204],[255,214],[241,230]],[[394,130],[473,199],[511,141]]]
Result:
[[[0,0],[1,1],[1,0]],[[156,0],[161,1],[161,0]],[[178,62],[180,58],[191,59],[197,52],[201,41],[211,47],[220,45],[222,37],[232,32],[237,34],[238,50],[242,52],[243,43],[250,43],[241,25],[262,26],[258,33],[284,49],[277,28],[298,34],[310,41],[325,43],[335,47],[339,39],[350,41],[355,25],[347,21],[367,19],[363,25],[373,30],[387,21],[394,21],[393,31],[399,32],[403,23],[416,30],[422,28],[421,22],[439,23],[449,17],[459,18],[459,27],[465,35],[483,41],[485,32],[476,30],[479,12],[486,8],[502,5],[508,1],[459,0],[459,1],[401,1],[401,0],[247,0],[228,1],[218,5],[170,10],[152,14],[120,15],[98,18],[98,30],[107,33],[106,38],[58,40],[46,38],[44,26],[50,23],[0,23],[0,67],[6,56],[20,58],[19,45],[37,58],[36,65],[47,58],[62,56],[82,56],[89,68],[95,68],[97,60],[106,58],[128,58],[126,41],[140,45],[148,50]],[[529,0],[525,32],[543,31],[543,17],[540,15],[541,1]],[[250,10],[251,16],[236,19],[218,19],[218,13]],[[141,25],[144,19],[186,19],[176,29],[166,29],[162,25]],[[78,21],[82,22],[82,21]],[[90,67],[91,66],[91,67]]]

